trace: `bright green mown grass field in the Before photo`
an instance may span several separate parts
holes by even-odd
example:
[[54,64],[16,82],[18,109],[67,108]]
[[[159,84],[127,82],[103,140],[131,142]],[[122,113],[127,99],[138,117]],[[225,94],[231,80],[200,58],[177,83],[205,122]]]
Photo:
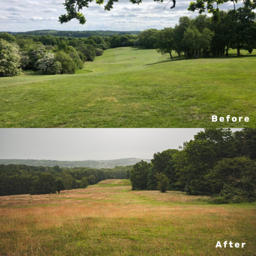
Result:
[[256,55],[231,53],[171,62],[117,48],[77,74],[0,78],[0,127],[255,127]]

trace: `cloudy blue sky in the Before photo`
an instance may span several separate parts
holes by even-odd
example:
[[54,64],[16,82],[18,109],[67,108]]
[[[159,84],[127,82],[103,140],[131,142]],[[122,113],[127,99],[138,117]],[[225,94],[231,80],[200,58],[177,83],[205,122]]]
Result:
[[[0,0],[0,31],[31,31],[41,29],[56,30],[144,30],[173,27],[179,17],[195,17],[197,13],[187,10],[190,0],[177,0],[176,8],[170,9],[170,3],[164,6],[152,0],[133,5],[128,0],[115,3],[111,11],[104,11],[104,6],[90,3],[84,9],[87,22],[80,25],[76,20],[60,24],[58,17],[65,14],[62,3],[65,0]],[[168,2],[168,0],[166,0]],[[223,9],[232,9],[233,2],[226,3]],[[239,7],[239,5],[237,5]]]

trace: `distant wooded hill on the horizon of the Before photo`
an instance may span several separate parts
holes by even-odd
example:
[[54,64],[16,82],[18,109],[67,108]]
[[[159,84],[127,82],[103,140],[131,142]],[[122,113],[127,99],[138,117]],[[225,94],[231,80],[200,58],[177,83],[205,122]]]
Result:
[[[1,31],[0,33],[3,33]],[[58,36],[58,37],[90,37],[90,36],[108,36],[112,37],[115,35],[123,35],[123,34],[132,34],[136,36],[141,31],[112,31],[112,30],[95,30],[95,31],[62,31],[62,30],[34,30],[34,31],[26,31],[26,32],[10,32],[5,31],[6,33],[12,35],[31,35],[31,36]]]

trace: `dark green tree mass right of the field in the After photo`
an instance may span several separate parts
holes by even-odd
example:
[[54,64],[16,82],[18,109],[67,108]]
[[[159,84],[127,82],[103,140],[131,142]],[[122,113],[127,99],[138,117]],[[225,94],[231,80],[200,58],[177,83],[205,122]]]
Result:
[[214,202],[256,200],[256,129],[205,129],[179,150],[135,164],[130,175],[133,190],[220,194]]

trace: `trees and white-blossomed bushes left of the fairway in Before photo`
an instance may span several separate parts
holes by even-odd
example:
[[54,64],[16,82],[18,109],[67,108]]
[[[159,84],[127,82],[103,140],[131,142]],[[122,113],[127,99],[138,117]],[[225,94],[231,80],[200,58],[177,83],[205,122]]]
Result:
[[136,36],[88,38],[0,34],[0,76],[18,76],[21,70],[44,74],[73,74],[85,61],[94,61],[109,48],[133,46]]

